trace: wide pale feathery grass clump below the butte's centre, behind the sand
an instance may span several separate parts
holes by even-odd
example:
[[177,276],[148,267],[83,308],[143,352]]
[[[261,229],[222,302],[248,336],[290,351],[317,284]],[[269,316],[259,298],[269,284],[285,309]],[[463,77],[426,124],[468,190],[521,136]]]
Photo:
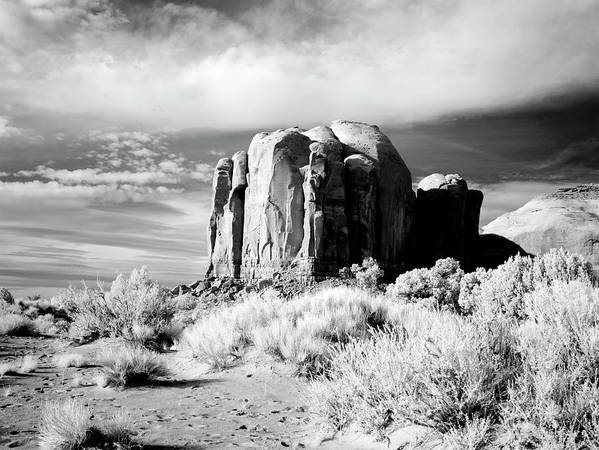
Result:
[[216,368],[254,345],[312,375],[324,369],[330,345],[364,337],[391,316],[382,296],[358,288],[325,289],[289,301],[273,292],[253,294],[188,327],[181,345]]

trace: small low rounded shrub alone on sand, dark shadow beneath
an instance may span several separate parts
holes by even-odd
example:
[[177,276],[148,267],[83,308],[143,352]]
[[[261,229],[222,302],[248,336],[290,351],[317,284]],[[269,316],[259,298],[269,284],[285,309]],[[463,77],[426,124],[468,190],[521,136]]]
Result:
[[117,387],[143,384],[169,373],[160,355],[134,346],[107,350],[97,362],[102,366],[106,384]]

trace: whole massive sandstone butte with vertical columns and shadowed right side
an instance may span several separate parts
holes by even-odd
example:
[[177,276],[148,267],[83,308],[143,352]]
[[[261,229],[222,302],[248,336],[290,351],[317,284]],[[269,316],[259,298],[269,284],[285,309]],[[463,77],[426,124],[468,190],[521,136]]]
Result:
[[[258,133],[216,166],[208,275],[331,276],[367,257],[388,276],[443,257],[472,269],[485,265],[482,200],[459,175],[432,174],[415,193],[399,152],[374,125]],[[504,246],[491,252],[504,259]]]

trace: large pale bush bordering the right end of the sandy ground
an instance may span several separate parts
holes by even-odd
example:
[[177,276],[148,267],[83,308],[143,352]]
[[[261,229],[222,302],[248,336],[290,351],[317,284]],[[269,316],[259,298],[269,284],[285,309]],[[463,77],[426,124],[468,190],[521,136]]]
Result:
[[379,435],[401,423],[443,433],[496,423],[520,364],[514,346],[509,324],[408,306],[395,330],[333,356],[312,385],[313,410],[330,427]]

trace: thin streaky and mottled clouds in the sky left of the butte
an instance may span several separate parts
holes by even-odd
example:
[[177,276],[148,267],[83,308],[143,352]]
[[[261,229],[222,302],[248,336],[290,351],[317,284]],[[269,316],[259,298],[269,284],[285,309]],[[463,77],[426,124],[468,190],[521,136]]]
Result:
[[2,284],[45,293],[144,264],[166,283],[200,276],[210,165],[173,151],[164,135],[61,142],[80,147],[70,163],[81,167],[0,173]]

